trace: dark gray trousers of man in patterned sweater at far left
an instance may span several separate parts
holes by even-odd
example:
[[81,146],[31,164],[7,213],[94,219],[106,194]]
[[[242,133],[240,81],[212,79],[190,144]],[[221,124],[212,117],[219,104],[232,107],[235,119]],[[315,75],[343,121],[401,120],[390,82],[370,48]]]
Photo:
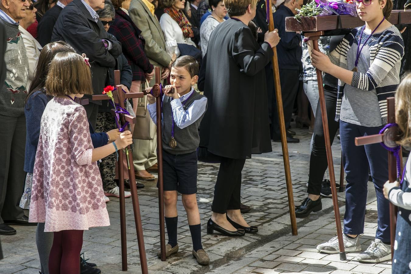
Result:
[[24,215],[19,207],[24,191],[25,116],[0,115],[0,224]]

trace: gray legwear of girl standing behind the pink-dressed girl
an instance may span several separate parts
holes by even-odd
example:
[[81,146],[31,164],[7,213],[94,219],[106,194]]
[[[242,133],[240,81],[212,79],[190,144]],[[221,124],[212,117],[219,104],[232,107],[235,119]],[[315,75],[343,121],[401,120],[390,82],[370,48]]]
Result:
[[44,223],[37,223],[36,245],[43,274],[48,273],[48,257],[53,246],[53,232],[44,232]]

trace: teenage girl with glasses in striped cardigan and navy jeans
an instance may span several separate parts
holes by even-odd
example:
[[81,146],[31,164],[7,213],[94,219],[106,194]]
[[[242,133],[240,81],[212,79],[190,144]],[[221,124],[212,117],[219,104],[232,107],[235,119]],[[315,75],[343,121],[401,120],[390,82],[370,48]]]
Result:
[[[375,240],[358,260],[390,260],[389,201],[383,184],[388,180],[388,154],[379,144],[356,146],[355,137],[378,134],[387,124],[387,97],[399,83],[404,41],[395,26],[386,20],[392,0],[354,0],[365,25],[344,37],[328,56],[312,51],[314,67],[339,79],[336,120],[340,123],[341,148],[346,173],[344,247],[361,251],[359,235],[364,233],[368,170],[376,190],[378,227]],[[338,253],[337,237],[317,246],[325,253]]]

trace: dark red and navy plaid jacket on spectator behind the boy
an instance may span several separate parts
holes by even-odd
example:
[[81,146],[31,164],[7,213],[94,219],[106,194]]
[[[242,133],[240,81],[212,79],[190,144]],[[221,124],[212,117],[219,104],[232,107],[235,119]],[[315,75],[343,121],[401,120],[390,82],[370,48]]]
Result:
[[123,54],[133,71],[133,81],[144,81],[145,73],[150,73],[154,67],[144,53],[145,41],[141,37],[141,30],[122,9],[116,9],[109,32],[121,42]]

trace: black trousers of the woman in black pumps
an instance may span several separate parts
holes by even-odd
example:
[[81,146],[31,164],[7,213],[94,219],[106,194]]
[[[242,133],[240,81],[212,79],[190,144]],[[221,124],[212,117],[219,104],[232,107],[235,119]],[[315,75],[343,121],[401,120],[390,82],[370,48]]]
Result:
[[224,214],[227,210],[240,209],[241,171],[244,164],[245,159],[222,157],[214,187],[212,212]]

